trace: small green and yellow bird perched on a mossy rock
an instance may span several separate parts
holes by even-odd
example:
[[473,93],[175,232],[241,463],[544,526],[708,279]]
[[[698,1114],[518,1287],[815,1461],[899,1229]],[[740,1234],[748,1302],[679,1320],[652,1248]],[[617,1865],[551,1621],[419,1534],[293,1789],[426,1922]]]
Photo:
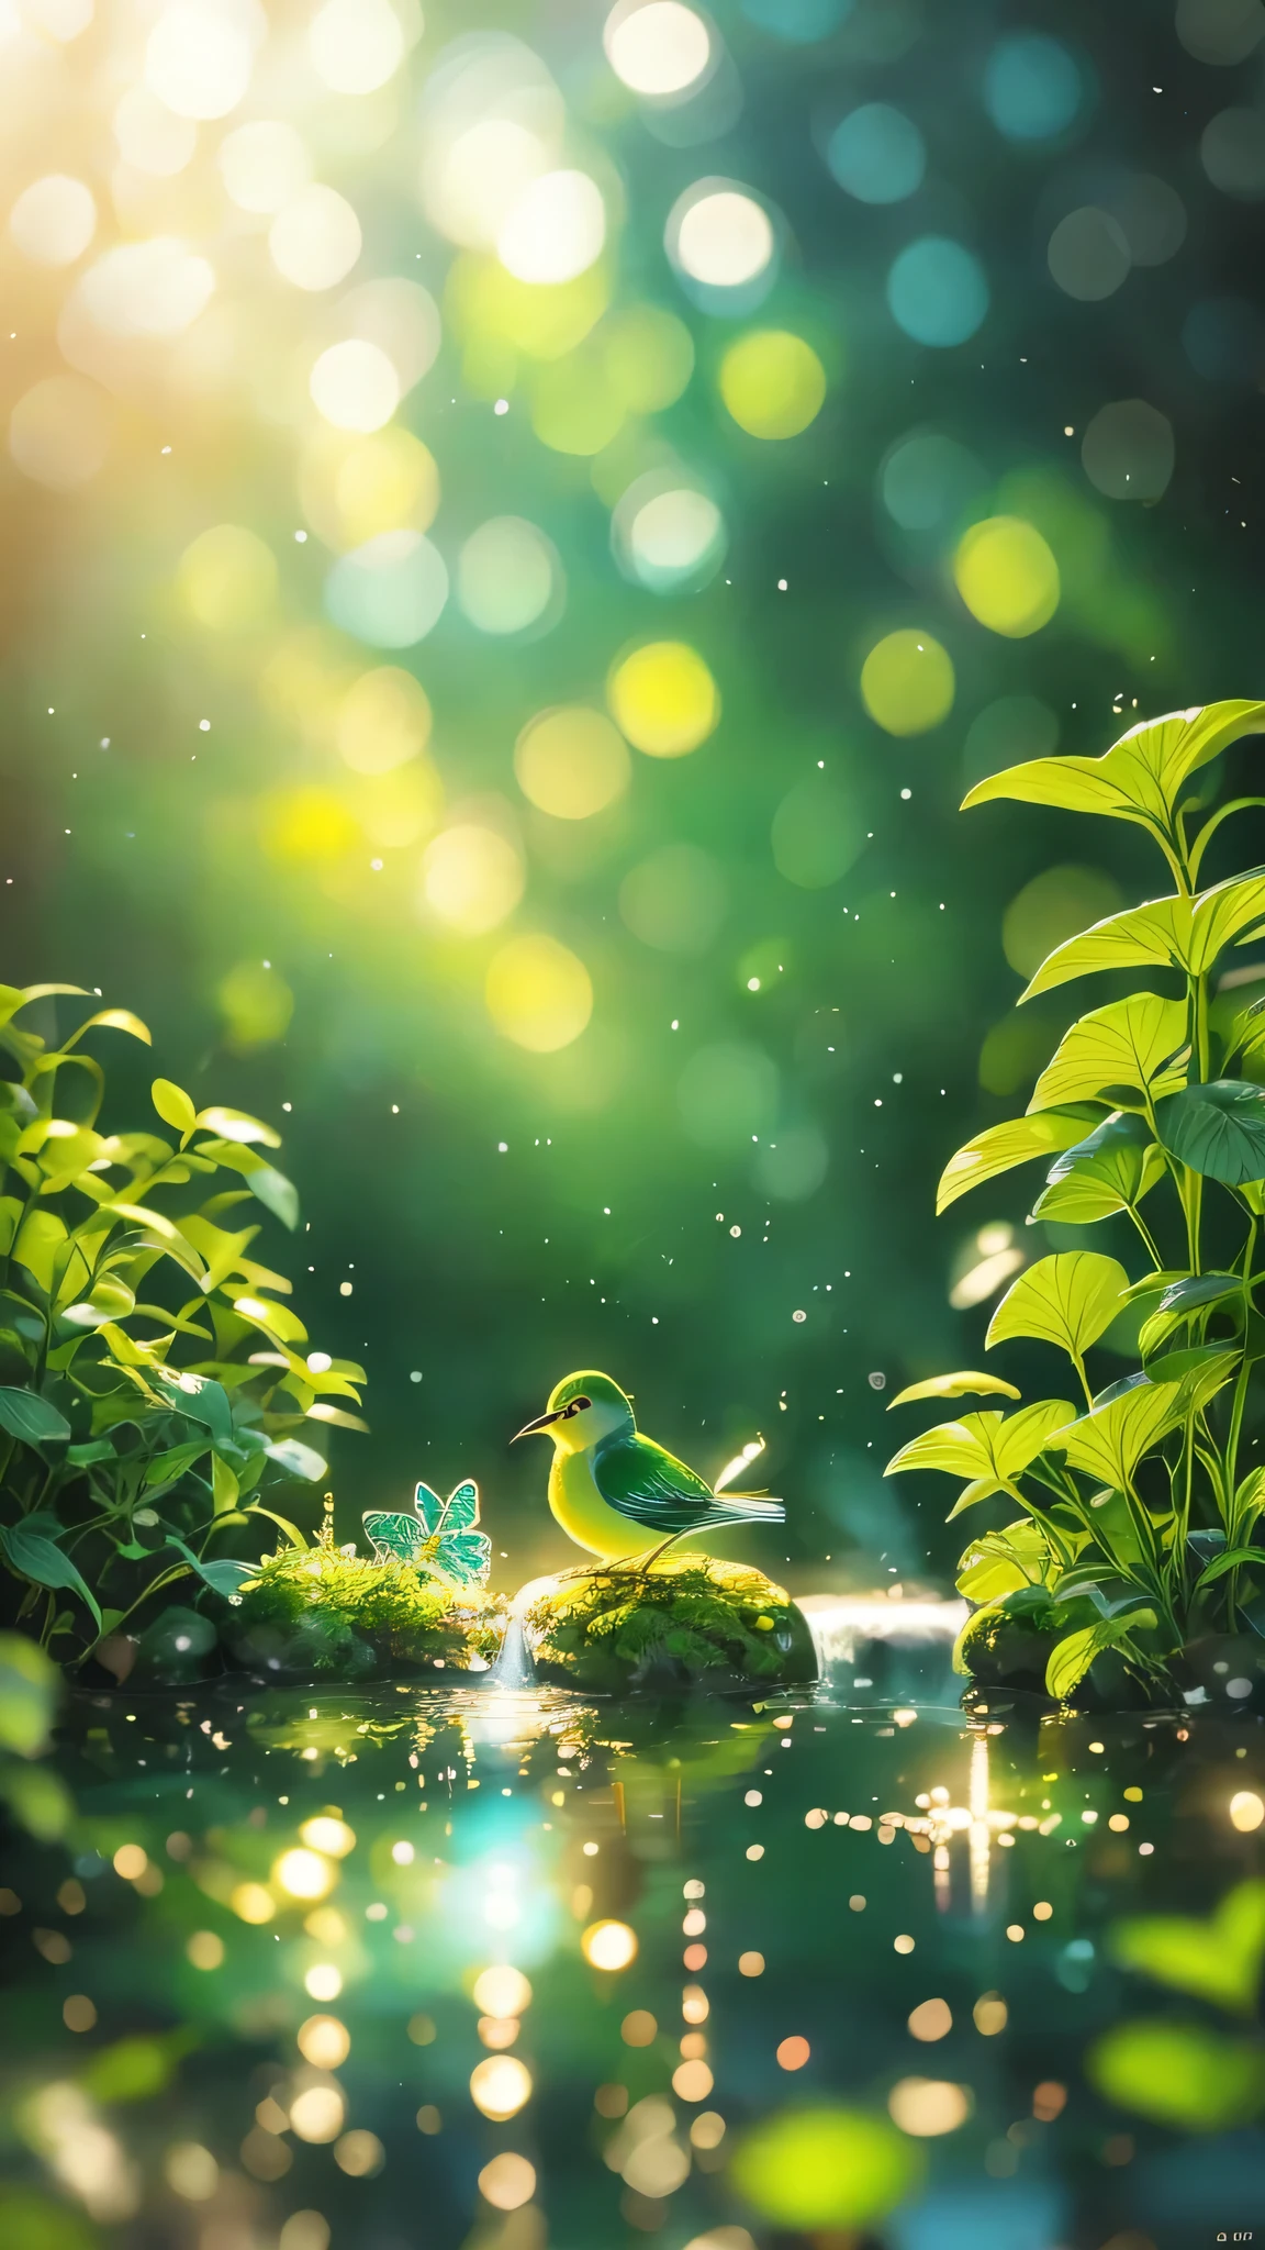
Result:
[[[718,1494],[632,1420],[632,1402],[610,1375],[585,1370],[554,1386],[545,1413],[515,1433],[554,1440],[549,1508],[576,1546],[605,1562],[651,1564],[687,1532],[734,1523],[783,1523],[781,1501]],[[646,1534],[657,1546],[646,1548]]]

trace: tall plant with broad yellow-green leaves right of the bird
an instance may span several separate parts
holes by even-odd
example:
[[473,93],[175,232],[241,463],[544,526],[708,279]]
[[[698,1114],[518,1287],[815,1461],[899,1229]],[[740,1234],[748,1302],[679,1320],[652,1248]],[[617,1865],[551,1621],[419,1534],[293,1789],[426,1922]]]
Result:
[[[1056,1696],[1074,1694],[1105,1649],[1159,1692],[1200,1634],[1236,1631],[1240,1620],[1265,1634],[1265,1467],[1245,1474],[1240,1460],[1251,1370],[1265,1359],[1256,1298],[1265,1282],[1265,1084],[1233,1076],[1265,1062],[1265,997],[1236,1006],[1215,994],[1227,947],[1265,936],[1265,868],[1197,886],[1220,824],[1265,799],[1233,799],[1204,817],[1206,776],[1195,785],[1231,742],[1258,731],[1260,702],[1175,711],[1139,722],[1101,758],[1038,758],[993,774],[963,806],[1011,796],[1132,821],[1175,884],[1042,961],[1020,1006],[1101,970],[1143,970],[1161,990],[1071,1024],[1026,1116],[961,1148],[939,1186],[945,1210],[968,1188],[1053,1156],[1031,1220],[1128,1217],[1141,1278],[1094,1249],[1040,1258],[1002,1298],[986,1336],[988,1348],[1011,1339],[1056,1346],[1083,1406],[1044,1400],[1015,1413],[966,1413],[923,1431],[887,1469],[963,1476],[954,1516],[997,1494],[1022,1510],[970,1544],[957,1584],[1017,1629],[1033,1629],[1033,1588],[1047,1595],[1042,1627],[1062,1627],[1044,1665]],[[1141,1314],[1141,1366],[1094,1390],[1089,1354],[1128,1307]],[[997,1388],[990,1377],[945,1375],[894,1404]],[[997,1634],[988,1642],[972,1618],[961,1670],[972,1645],[999,1645]]]

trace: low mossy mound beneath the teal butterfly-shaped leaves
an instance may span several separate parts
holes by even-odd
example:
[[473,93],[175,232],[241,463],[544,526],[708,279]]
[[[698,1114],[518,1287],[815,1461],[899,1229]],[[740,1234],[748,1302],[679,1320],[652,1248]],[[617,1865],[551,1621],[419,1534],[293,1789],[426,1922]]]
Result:
[[221,1640],[236,1665],[268,1678],[367,1681],[484,1672],[504,1624],[500,1595],[419,1577],[403,1562],[288,1548],[243,1582]]

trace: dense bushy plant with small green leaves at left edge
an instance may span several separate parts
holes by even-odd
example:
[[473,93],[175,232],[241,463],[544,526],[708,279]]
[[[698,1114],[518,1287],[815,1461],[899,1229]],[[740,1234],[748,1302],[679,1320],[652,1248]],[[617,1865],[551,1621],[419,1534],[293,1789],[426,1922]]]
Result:
[[365,1429],[342,1404],[365,1375],[308,1354],[290,1282],[250,1256],[250,1210],[299,1220],[272,1127],[155,1078],[167,1132],[99,1130],[83,1042],[149,1030],[106,1008],[50,1046],[20,1017],[56,994],[92,997],[0,986],[0,1588],[83,1656],[178,1580],[234,1598],[225,1534],[306,1548],[270,1503],[326,1472],[308,1422]]

